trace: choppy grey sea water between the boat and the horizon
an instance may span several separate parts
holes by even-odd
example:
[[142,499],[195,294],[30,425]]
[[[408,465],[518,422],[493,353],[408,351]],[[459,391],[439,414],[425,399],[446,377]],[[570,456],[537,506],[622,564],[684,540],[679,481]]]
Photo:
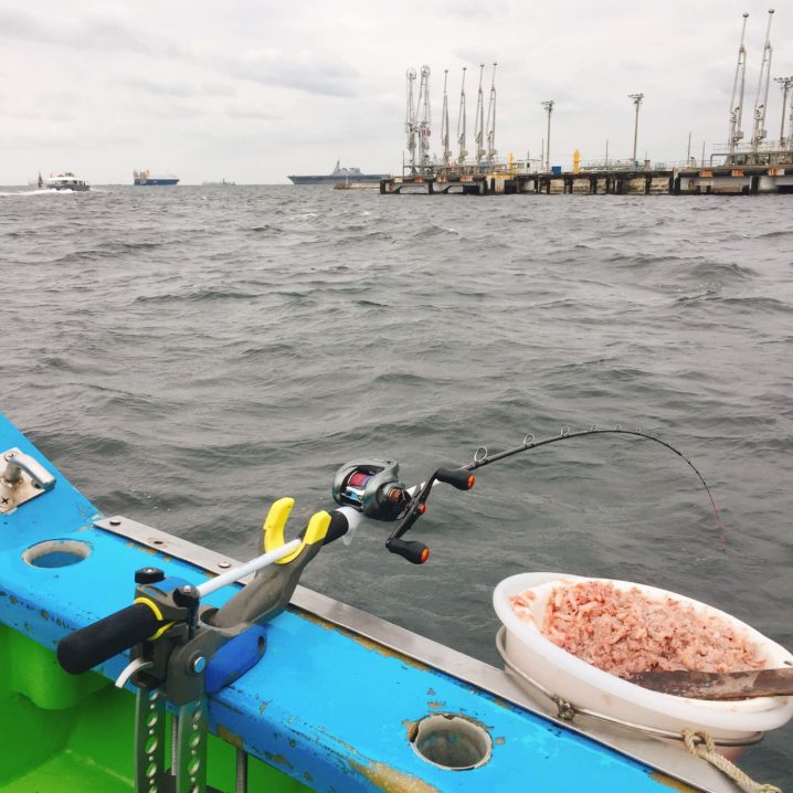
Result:
[[[593,425],[329,546],[303,583],[493,664],[532,570],[663,586],[793,648],[790,197],[0,190],[0,409],[105,514],[237,559],[346,461],[442,464]],[[744,754],[793,789],[793,723]]]

